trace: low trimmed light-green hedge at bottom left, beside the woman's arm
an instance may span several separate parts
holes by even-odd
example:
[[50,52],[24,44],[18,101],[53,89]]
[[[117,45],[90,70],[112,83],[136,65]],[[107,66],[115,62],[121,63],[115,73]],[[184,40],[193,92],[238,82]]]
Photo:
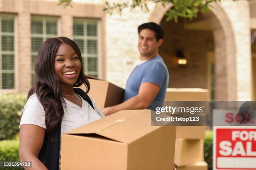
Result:
[[[0,161],[19,161],[19,141],[0,141]],[[0,168],[1,170],[23,170],[24,168]]]

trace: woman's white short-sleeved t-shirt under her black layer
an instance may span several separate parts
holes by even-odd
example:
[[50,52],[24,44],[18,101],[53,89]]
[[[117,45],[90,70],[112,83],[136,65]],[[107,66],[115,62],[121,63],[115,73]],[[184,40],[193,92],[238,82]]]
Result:
[[[89,95],[88,95],[89,96]],[[90,96],[89,96],[90,97]],[[82,99],[82,97],[80,97]],[[92,100],[92,98],[90,97]],[[64,108],[64,115],[61,120],[61,134],[66,133],[69,130],[73,130],[80,126],[86,125],[90,122],[100,119],[101,117],[105,117],[103,113],[100,111],[100,108],[97,107],[96,102],[92,100],[92,104],[94,109],[89,105],[88,102],[82,99],[82,107],[70,102],[69,100],[64,98],[65,104],[62,106]],[[38,125],[42,128],[46,129],[45,125],[45,112],[44,107],[39,102],[36,93],[31,95],[26,102],[26,105],[23,109],[23,115],[20,120],[20,125],[24,124],[33,124]],[[61,148],[61,145],[60,145]],[[61,149],[60,149],[61,155]],[[60,158],[61,160],[61,158]],[[59,163],[61,161],[59,160]],[[59,164],[60,169],[60,164]]]

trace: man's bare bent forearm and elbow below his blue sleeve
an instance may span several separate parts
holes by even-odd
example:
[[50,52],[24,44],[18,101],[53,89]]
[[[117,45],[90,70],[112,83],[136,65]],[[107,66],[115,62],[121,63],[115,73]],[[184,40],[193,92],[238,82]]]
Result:
[[138,95],[131,97],[119,105],[106,107],[101,111],[107,116],[120,110],[146,109],[154,100],[159,90],[160,87],[158,85],[151,82],[143,82],[141,83]]

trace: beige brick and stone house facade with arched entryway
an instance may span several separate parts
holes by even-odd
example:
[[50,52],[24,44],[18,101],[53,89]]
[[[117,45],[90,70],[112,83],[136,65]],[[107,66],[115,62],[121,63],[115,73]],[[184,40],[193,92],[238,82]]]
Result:
[[164,28],[159,54],[169,69],[169,87],[209,89],[212,100],[255,99],[254,0],[213,2],[209,13],[178,23],[166,22],[172,5],[149,4],[148,13],[138,8],[109,15],[103,0],[73,0],[66,8],[57,3],[0,0],[0,92],[27,93],[35,82],[38,48],[57,36],[77,42],[87,75],[125,87],[139,60],[137,27],[152,21]]

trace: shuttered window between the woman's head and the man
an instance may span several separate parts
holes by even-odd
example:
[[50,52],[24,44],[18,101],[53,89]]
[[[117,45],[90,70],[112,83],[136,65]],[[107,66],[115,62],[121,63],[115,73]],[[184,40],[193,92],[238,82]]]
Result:
[[74,41],[82,53],[86,75],[98,77],[98,24],[97,20],[74,19]]

